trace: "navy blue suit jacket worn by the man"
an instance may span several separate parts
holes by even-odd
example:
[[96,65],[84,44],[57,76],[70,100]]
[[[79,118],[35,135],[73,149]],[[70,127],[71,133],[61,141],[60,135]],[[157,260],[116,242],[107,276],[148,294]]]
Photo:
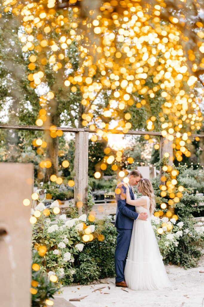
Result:
[[[117,185],[118,189],[121,190],[120,194],[116,195],[117,211],[115,227],[123,229],[132,229],[134,220],[139,216],[139,213],[135,212],[135,206],[126,204],[126,188],[122,185],[122,182]],[[134,194],[130,188],[130,198],[134,200]]]

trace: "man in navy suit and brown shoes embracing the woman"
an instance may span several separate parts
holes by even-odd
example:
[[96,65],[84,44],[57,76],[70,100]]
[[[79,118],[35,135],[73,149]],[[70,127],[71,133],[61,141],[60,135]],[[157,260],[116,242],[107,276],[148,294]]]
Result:
[[[130,187],[130,198],[132,200],[135,199],[132,187],[137,185],[141,178],[143,178],[142,174],[135,169],[128,174],[128,186]],[[126,188],[122,182],[119,183],[115,189],[117,201],[115,227],[117,227],[118,233],[115,250],[115,273],[117,287],[127,287],[124,280],[124,269],[130,246],[134,220],[147,220],[147,213],[137,213],[135,212],[135,206],[126,204]]]

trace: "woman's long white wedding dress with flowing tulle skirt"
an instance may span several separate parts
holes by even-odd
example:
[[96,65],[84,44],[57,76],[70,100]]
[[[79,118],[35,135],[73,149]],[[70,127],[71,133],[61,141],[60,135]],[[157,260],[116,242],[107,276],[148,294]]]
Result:
[[166,274],[157,239],[151,225],[150,200],[147,208],[135,206],[136,212],[147,212],[147,221],[135,220],[128,258],[125,265],[125,282],[132,290],[156,290],[171,286]]

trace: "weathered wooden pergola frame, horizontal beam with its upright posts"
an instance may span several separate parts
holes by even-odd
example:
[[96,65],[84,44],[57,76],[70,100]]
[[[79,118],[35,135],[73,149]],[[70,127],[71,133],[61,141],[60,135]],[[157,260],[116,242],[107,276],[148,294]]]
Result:
[[[39,127],[39,126],[26,126],[26,125],[10,125],[0,124],[0,129],[9,130],[35,130],[35,131],[48,131],[50,127]],[[88,136],[89,133],[96,133],[97,130],[90,130],[88,128],[68,128],[68,127],[57,127],[57,130],[63,132],[75,133],[75,185],[74,185],[74,201],[75,205],[77,201],[82,201],[83,204],[87,201],[87,186],[88,186]],[[111,132],[112,134],[121,134],[122,130],[116,129],[100,129],[105,132]],[[164,156],[164,153],[168,152],[170,157],[170,165],[173,164],[173,148],[172,141],[168,141],[162,136],[160,132],[154,131],[139,131],[129,130],[127,135],[150,135],[160,137],[160,159]],[[176,134],[173,134],[174,136]],[[183,135],[183,134],[181,134]],[[204,134],[191,134],[190,138],[203,138]],[[162,176],[162,169],[160,168],[160,176]],[[86,208],[85,208],[86,210]],[[79,208],[79,215],[83,212],[83,208]]]

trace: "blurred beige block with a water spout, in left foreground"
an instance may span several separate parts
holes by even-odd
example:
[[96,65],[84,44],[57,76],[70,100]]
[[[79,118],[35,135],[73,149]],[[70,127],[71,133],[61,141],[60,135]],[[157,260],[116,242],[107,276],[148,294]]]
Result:
[[0,287],[1,307],[30,307],[31,224],[33,192],[31,163],[0,163]]

